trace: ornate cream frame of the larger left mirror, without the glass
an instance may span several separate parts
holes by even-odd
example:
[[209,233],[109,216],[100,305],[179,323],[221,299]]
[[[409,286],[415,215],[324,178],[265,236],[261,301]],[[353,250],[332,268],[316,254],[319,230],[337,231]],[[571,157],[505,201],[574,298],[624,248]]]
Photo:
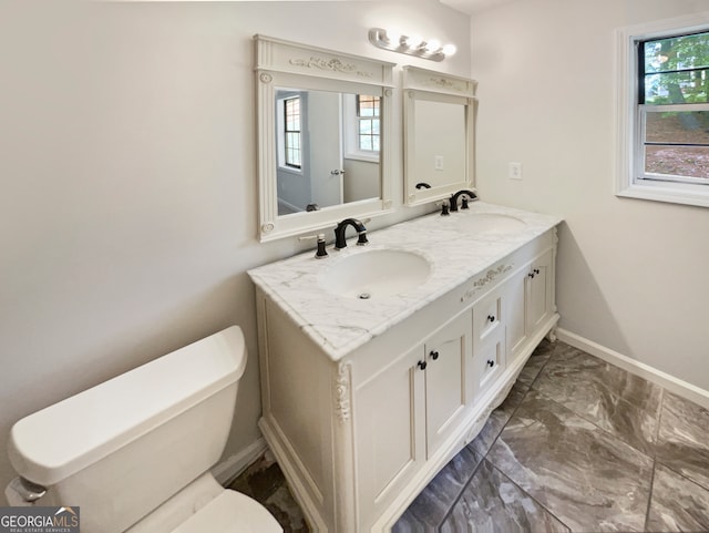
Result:
[[[370,217],[392,207],[391,132],[394,63],[270,37],[254,35],[258,142],[259,236],[261,242],[322,232],[348,217]],[[380,197],[320,211],[278,216],[276,165],[277,88],[374,94],[381,96]]]

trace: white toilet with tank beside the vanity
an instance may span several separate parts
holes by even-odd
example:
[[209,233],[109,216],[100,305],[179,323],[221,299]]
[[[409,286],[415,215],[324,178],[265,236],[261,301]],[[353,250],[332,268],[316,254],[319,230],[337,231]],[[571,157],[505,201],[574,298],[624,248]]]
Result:
[[8,500],[79,506],[83,533],[281,532],[209,472],[246,358],[233,326],[23,418]]

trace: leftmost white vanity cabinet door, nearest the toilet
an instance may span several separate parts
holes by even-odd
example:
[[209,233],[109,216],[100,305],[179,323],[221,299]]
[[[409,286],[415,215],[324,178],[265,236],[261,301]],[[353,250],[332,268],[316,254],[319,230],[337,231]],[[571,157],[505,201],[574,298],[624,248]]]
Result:
[[[354,390],[353,418],[363,516],[378,514],[425,460],[424,370],[421,345]],[[422,365],[423,366],[423,365]]]

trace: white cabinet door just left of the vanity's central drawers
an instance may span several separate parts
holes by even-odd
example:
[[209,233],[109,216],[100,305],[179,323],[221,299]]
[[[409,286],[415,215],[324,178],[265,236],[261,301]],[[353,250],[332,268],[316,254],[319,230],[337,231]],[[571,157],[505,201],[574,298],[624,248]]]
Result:
[[427,457],[458,428],[467,402],[466,369],[472,360],[471,315],[464,312],[425,344]]

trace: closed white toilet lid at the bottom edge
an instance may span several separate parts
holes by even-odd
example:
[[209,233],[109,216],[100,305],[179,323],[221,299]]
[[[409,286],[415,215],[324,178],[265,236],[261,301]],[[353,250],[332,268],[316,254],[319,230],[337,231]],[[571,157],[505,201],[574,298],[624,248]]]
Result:
[[282,533],[276,519],[256,500],[225,490],[172,533]]

